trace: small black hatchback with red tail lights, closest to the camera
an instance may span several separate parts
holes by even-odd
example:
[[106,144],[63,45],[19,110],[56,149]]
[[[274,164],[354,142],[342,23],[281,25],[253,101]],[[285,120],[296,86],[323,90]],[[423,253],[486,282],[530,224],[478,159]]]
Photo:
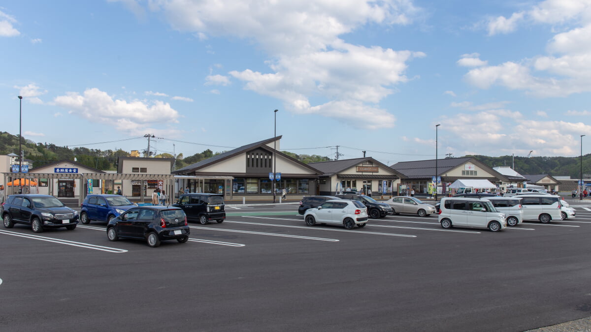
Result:
[[148,246],[157,247],[160,241],[189,240],[187,216],[183,210],[171,206],[142,206],[125,211],[107,224],[107,237],[116,241],[119,237],[141,239]]

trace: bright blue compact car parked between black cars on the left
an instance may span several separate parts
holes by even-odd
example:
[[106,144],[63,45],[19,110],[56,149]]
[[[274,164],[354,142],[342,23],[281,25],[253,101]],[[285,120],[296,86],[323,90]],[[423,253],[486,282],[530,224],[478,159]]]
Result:
[[121,195],[90,194],[86,196],[80,207],[80,222],[88,224],[90,220],[110,222],[113,218],[118,217],[119,214],[124,213],[132,207],[137,207],[137,205],[131,203],[125,196]]

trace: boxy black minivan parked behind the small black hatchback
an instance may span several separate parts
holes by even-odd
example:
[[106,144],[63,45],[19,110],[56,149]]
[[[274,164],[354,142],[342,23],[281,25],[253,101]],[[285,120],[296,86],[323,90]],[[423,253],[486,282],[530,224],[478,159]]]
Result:
[[222,194],[192,193],[182,194],[173,206],[180,207],[187,214],[187,219],[204,225],[209,220],[223,223],[226,219],[226,204]]

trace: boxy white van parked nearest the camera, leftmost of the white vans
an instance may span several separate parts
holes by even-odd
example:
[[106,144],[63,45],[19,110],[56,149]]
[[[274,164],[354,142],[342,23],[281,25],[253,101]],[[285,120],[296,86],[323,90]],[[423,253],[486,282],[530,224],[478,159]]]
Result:
[[498,232],[507,227],[505,214],[500,213],[488,199],[441,198],[439,223],[443,228],[483,227]]

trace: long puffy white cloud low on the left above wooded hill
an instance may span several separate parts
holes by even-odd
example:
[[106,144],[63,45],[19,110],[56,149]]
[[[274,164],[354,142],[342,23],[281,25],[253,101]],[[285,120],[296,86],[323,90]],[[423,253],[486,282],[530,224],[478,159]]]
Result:
[[[153,134],[171,134],[174,131],[148,127],[150,124],[177,123],[179,114],[168,103],[155,100],[148,104],[139,100],[127,102],[113,99],[99,89],[87,89],[80,95],[68,92],[54,99],[57,106],[69,110],[70,114],[81,116],[93,122],[102,122],[130,135],[143,135],[147,130]],[[143,134],[142,134],[143,133]]]

